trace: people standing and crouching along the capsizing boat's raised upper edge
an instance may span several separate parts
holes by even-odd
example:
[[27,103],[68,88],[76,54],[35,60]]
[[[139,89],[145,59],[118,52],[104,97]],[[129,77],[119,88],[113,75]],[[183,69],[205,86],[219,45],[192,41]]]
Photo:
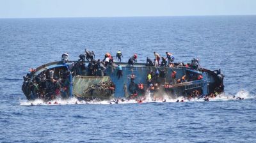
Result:
[[[165,66],[165,67],[173,67],[173,66],[185,66],[187,68],[192,68],[193,70],[200,70],[200,64],[198,59],[193,59],[191,60],[191,63],[174,63],[174,56],[170,52],[165,52],[166,57],[161,57],[160,54],[154,52],[154,61],[152,61],[149,57],[147,57],[146,61],[146,66],[154,66],[154,67],[159,67],[159,66]],[[79,59],[76,63],[74,68],[72,68],[72,71],[74,71],[74,74],[80,75],[82,71],[86,68],[84,62],[88,61],[88,75],[89,76],[104,76],[106,75],[106,68],[111,67],[113,70],[114,68],[118,68],[118,73],[116,75],[118,76],[118,79],[122,77],[122,66],[119,65],[119,63],[122,61],[123,54],[121,50],[118,50],[116,52],[115,58],[117,58],[117,64],[114,61],[114,57],[111,56],[109,52],[107,52],[104,55],[104,59],[100,61],[98,59],[97,61],[95,60],[95,53],[93,51],[89,50],[84,50],[83,54],[79,55]],[[138,59],[138,54],[132,55],[128,59],[128,66],[134,66],[134,64],[137,63]],[[64,53],[61,56],[61,61],[63,63],[68,62],[68,53]],[[161,61],[161,62],[160,62]],[[185,77],[184,77],[185,78]],[[177,80],[177,82],[184,82],[184,80],[180,79]]]

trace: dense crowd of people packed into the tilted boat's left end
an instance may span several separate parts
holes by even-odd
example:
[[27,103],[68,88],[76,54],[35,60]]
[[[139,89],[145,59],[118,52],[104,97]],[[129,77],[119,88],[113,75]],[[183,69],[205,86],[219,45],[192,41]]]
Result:
[[29,70],[26,77],[24,76],[24,86],[26,96],[30,99],[40,98],[42,100],[52,100],[54,98],[68,98],[71,84],[69,80],[70,72],[66,70],[54,71],[45,70],[38,75],[34,75],[35,69]]

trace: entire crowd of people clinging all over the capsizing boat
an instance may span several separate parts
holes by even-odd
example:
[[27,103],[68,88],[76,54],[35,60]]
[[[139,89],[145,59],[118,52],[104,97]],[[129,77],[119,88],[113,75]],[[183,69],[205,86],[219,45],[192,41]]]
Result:
[[[175,57],[170,52],[165,52],[166,57],[161,57],[160,54],[154,52],[154,61],[152,61],[149,57],[147,57],[146,66],[154,66],[156,70],[154,72],[150,72],[147,74],[147,86],[143,83],[136,84],[134,82],[135,75],[131,75],[131,84],[129,85],[128,89],[132,93],[129,98],[135,98],[138,94],[145,93],[146,90],[150,91],[150,93],[157,92],[160,86],[164,86],[164,91],[169,92],[170,86],[172,84],[180,84],[183,82],[188,82],[189,80],[200,80],[203,79],[202,74],[196,75],[196,77],[189,77],[189,75],[183,75],[180,79],[177,79],[177,75],[174,70],[171,73],[170,81],[160,83],[158,82],[159,77],[166,77],[166,71],[164,68],[157,68],[157,67],[173,67],[173,66],[184,66],[187,68],[191,68],[193,70],[200,70],[200,64],[198,59],[192,59],[191,63],[174,63]],[[61,55],[61,61],[63,63],[68,63],[68,53],[64,53]],[[114,57],[111,56],[109,52],[104,55],[104,59],[100,61],[98,59],[95,60],[95,53],[93,51],[84,50],[83,54],[79,55],[79,59],[75,63],[67,64],[68,70],[58,70],[54,71],[45,70],[40,74],[33,76],[35,73],[35,69],[32,69],[31,72],[24,77],[24,84],[29,85],[31,88],[32,94],[31,98],[42,98],[42,99],[53,99],[58,96],[63,98],[67,98],[68,94],[70,94],[69,87],[71,82],[68,76],[74,75],[83,75],[83,71],[86,70],[86,75],[88,76],[105,76],[106,69],[111,67],[112,73],[115,68],[117,68],[116,76],[120,79],[123,76],[122,73],[122,65],[120,64],[122,61],[123,54],[121,50],[116,52],[115,58],[118,59],[117,63],[114,61]],[[137,63],[138,54],[133,54],[127,64],[128,66],[134,66]],[[88,62],[86,66],[85,61]],[[220,74],[220,70],[217,70],[216,73]],[[31,80],[33,79],[33,80]],[[134,89],[131,89],[135,87]],[[147,87],[147,89],[145,88]],[[189,95],[189,97],[198,96],[197,91],[193,91],[193,94]]]

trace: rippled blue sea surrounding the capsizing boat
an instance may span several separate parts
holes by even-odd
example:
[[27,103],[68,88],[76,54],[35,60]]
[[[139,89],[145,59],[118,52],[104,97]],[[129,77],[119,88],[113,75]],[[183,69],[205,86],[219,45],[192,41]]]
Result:
[[[225,93],[183,103],[26,100],[29,68],[64,52],[77,60],[85,48],[96,59],[122,50],[125,62],[154,51],[196,57],[221,68]],[[0,19],[0,50],[0,142],[256,142],[256,16]]]

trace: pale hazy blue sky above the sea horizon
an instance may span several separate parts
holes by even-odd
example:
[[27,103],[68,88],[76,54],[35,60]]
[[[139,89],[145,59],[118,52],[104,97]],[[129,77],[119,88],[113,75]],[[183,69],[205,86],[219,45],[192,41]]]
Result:
[[0,18],[256,15],[256,0],[0,0]]

